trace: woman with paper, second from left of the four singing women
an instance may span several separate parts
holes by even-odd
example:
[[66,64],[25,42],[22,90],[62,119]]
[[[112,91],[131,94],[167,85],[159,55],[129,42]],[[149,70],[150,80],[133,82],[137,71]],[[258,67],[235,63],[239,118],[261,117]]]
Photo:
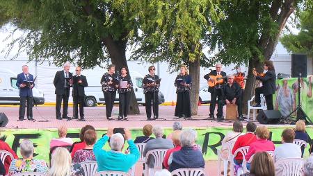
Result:
[[[131,82],[130,77],[127,75],[127,67],[122,67],[120,70],[121,74],[119,76],[120,85],[118,87],[118,94],[120,98],[120,111],[118,115],[118,120],[128,120],[128,109],[129,109],[129,100],[131,94],[131,87],[133,87],[133,82]],[[127,85],[123,87],[124,82],[127,82]]]

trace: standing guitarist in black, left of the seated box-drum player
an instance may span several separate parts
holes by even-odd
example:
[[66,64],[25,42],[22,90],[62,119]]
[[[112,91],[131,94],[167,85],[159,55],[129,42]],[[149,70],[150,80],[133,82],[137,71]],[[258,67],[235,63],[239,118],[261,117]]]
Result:
[[[211,76],[211,77],[210,77]],[[223,82],[221,82],[220,84],[215,85],[214,87],[209,87],[209,92],[211,93],[211,103],[210,103],[210,114],[209,114],[209,118],[214,118],[214,111],[215,111],[215,106],[216,106],[216,98],[218,98],[218,100],[222,100],[222,85],[225,84],[225,82],[227,82],[227,78],[226,78],[226,73],[224,71],[222,71],[222,64],[217,63],[215,65],[215,70],[212,70],[210,73],[208,73],[207,75],[204,76],[204,79],[206,79],[208,82],[213,82],[214,78],[212,78],[212,76],[223,76]],[[223,107],[222,107],[223,108]],[[218,112],[223,112],[222,110],[218,109]],[[223,113],[217,114],[217,119],[218,120],[223,120]]]

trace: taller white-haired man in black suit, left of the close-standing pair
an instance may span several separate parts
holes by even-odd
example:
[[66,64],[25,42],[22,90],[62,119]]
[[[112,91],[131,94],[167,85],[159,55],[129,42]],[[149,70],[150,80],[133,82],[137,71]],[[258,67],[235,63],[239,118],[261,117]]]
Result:
[[[70,87],[72,87],[72,73],[70,73],[70,63],[66,62],[63,70],[57,71],[54,76],[54,87],[56,87],[56,119],[70,119],[67,116],[68,98],[70,96]],[[61,118],[61,103],[63,100],[63,115]]]

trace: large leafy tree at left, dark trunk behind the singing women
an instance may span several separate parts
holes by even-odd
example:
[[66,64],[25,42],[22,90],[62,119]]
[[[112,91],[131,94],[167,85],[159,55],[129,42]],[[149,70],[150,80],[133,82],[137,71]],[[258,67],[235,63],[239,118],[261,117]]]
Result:
[[[10,23],[24,31],[24,35],[10,42],[7,54],[18,44],[19,53],[26,50],[29,60],[43,62],[53,58],[51,63],[57,66],[70,61],[83,68],[93,68],[109,59],[117,69],[127,66],[127,42],[136,37],[138,27],[132,16],[123,16],[123,11],[135,8],[136,3],[0,0],[0,7],[0,17],[3,17],[0,24]],[[139,113],[134,90],[130,109]]]

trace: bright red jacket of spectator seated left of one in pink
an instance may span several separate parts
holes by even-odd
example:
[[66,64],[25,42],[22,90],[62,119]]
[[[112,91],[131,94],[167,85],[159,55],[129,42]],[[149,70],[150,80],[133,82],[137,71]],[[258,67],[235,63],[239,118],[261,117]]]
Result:
[[[253,134],[252,132],[241,135],[234,143],[234,147],[232,148],[232,155],[234,155],[234,152],[236,152],[238,148],[250,146],[250,143],[253,143],[255,141],[257,141],[257,137],[255,137],[255,134]],[[235,159],[243,160],[241,152],[236,155]]]

